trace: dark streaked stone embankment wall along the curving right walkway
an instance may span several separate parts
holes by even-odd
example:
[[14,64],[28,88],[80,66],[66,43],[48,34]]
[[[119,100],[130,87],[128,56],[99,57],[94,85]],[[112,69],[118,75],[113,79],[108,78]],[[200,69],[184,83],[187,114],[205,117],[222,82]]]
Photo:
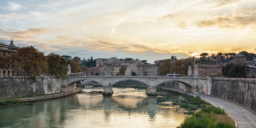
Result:
[[256,79],[212,79],[211,95],[256,112]]

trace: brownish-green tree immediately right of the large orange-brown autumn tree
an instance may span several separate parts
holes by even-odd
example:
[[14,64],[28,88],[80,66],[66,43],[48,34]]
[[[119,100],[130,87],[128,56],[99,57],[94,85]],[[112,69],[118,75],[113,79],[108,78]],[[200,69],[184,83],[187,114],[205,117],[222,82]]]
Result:
[[52,76],[60,75],[62,79],[66,78],[68,62],[67,60],[65,60],[65,58],[51,52],[47,56],[47,63],[48,63],[48,74],[51,74]]

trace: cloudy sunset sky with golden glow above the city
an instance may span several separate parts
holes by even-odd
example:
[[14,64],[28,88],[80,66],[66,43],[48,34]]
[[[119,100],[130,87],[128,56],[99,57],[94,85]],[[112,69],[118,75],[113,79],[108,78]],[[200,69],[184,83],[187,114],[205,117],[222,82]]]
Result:
[[0,0],[0,42],[148,63],[256,54],[256,0]]

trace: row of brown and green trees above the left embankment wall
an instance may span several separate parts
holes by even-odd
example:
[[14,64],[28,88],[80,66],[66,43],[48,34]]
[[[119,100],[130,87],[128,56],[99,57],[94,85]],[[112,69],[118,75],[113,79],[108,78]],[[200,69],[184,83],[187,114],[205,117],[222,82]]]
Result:
[[[16,54],[3,57],[0,56],[0,68],[12,69],[17,76],[29,76],[34,79],[41,74],[49,74],[51,76],[61,76],[66,78],[67,65],[70,63],[71,72],[80,72],[79,63],[74,60],[68,62],[65,58],[51,52],[48,56],[44,56],[43,52],[33,46],[22,47]],[[70,59],[70,58],[69,58]]]

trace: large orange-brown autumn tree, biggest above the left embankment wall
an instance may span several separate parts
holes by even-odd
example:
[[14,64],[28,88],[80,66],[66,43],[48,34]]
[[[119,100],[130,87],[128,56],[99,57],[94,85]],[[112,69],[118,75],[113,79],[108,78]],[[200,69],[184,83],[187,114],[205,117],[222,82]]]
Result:
[[23,64],[23,69],[30,78],[40,76],[43,71],[47,71],[47,63],[43,52],[33,46],[22,47],[17,52],[17,58]]

